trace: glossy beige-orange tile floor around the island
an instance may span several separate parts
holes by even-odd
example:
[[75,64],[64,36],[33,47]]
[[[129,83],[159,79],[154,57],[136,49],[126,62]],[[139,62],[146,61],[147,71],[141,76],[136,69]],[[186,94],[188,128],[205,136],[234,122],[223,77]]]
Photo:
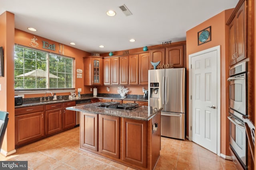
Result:
[[[79,127],[26,145],[0,160],[27,160],[31,170],[134,170],[79,149]],[[155,170],[235,170],[234,163],[185,140],[161,138]]]

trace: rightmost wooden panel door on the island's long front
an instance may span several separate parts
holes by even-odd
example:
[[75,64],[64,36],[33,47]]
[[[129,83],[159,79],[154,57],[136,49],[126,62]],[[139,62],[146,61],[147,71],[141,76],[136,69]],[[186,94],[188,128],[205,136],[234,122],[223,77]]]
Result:
[[123,118],[122,160],[147,166],[147,122]]

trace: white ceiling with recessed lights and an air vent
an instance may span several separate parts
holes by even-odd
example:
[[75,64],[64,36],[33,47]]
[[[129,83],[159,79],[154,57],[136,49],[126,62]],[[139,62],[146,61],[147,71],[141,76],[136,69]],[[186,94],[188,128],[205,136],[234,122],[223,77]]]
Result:
[[[15,28],[89,53],[107,53],[166,41],[234,8],[238,0],[0,0],[0,14],[15,15]],[[125,16],[119,6],[132,13]],[[116,16],[106,15],[114,10]],[[38,31],[29,31],[34,27]],[[129,40],[136,41],[131,43]],[[100,48],[99,45],[104,45]]]

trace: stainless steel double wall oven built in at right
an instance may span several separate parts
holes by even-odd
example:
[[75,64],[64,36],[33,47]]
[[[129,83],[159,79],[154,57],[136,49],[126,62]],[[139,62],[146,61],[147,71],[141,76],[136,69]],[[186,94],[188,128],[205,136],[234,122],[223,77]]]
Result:
[[247,141],[243,116],[247,117],[247,63],[242,62],[230,68],[229,116],[230,148],[237,160],[247,168]]

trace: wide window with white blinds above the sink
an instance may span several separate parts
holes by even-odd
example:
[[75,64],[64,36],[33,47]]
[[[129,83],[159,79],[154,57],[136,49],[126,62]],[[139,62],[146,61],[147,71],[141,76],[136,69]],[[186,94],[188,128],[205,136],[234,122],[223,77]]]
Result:
[[74,89],[74,59],[21,45],[14,49],[14,88]]

